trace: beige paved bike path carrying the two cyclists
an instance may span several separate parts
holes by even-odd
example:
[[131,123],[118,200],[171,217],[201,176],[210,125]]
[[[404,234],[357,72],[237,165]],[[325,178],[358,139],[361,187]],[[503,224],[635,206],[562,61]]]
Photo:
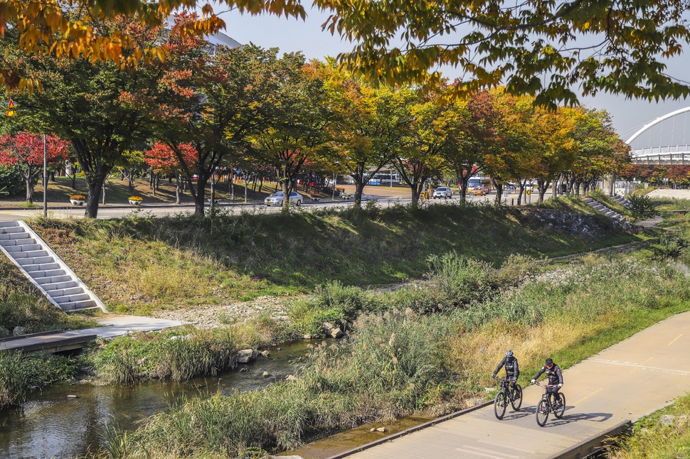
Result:
[[544,427],[537,426],[534,416],[542,389],[530,386],[524,389],[521,411],[509,408],[502,421],[495,418],[493,406],[487,406],[347,457],[558,457],[690,392],[689,349],[690,312],[652,325],[564,371],[566,413],[562,419],[549,415]]

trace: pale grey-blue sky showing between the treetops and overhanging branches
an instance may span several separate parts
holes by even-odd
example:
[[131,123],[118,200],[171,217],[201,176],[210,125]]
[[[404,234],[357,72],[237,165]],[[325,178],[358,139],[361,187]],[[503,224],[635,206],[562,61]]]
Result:
[[[338,53],[352,49],[351,43],[341,41],[337,36],[331,36],[321,30],[321,24],[327,16],[319,11],[309,11],[306,21],[297,19],[277,18],[275,16],[240,15],[235,11],[222,13],[221,18],[227,28],[225,33],[240,43],[252,42],[262,48],[280,48],[282,53],[302,51],[308,59],[322,59],[327,55],[336,56]],[[687,53],[690,53],[690,48]],[[686,80],[690,72],[686,63],[688,56],[680,59],[669,67],[672,75],[681,75]],[[452,70],[444,72],[448,77]],[[601,94],[596,97],[582,98],[580,102],[588,108],[606,109],[613,118],[613,124],[623,140],[627,140],[644,124],[662,117],[664,114],[690,106],[690,100],[668,100],[666,102],[647,102],[640,100],[626,100],[625,97]]]

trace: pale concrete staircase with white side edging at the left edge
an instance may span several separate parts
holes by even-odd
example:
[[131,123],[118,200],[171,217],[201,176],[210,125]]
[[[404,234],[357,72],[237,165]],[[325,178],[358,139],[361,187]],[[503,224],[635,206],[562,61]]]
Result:
[[63,311],[107,308],[76,274],[21,220],[0,222],[0,250],[51,303]]

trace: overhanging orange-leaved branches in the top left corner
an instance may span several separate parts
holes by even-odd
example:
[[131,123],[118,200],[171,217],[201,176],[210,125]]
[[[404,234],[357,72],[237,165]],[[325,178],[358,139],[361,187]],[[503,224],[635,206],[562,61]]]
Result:
[[[243,13],[268,13],[304,18],[299,0],[221,0]],[[132,0],[112,2],[104,0],[4,0],[0,14],[0,36],[14,33],[21,53],[32,56],[52,55],[55,58],[87,58],[92,63],[110,62],[122,70],[132,70],[142,63],[161,61],[169,49],[164,42],[139,41],[130,26],[103,28],[103,21],[126,17],[129,25],[137,24],[146,30],[161,29],[167,18],[176,11],[189,9],[201,16],[184,23],[171,33],[181,37],[203,38],[225,28],[225,23],[213,12],[211,4],[198,5],[192,1],[150,2]],[[76,12],[76,14],[75,14]],[[32,75],[16,60],[0,54],[0,82],[6,88],[41,90],[42,80]]]

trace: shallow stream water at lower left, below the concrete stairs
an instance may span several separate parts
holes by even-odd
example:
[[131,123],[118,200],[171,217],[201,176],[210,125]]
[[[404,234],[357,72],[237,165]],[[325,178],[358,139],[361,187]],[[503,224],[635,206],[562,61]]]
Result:
[[[183,396],[266,387],[294,372],[308,341],[281,345],[247,367],[186,382],[149,382],[134,387],[62,383],[31,394],[23,406],[0,411],[0,458],[73,458],[100,442],[106,423],[134,430],[139,421],[166,411]],[[262,373],[270,373],[263,377]],[[73,395],[77,398],[68,398]]]

